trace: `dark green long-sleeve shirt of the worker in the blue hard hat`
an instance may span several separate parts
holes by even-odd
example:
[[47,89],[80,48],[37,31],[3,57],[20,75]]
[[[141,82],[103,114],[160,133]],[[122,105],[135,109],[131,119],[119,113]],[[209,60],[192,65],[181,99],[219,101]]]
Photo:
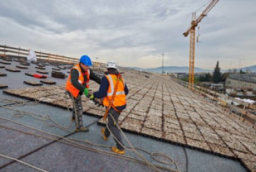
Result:
[[[96,76],[95,73],[93,73],[93,70],[90,69],[90,80],[93,80],[97,83],[100,84],[100,78],[99,76]],[[82,69],[82,72],[84,73],[83,69]],[[86,83],[85,81],[87,80],[87,75],[84,75],[84,85],[82,85],[81,83],[78,82],[78,78],[79,78],[79,72],[77,71],[77,69],[71,69],[70,71],[70,78],[71,78],[71,83],[72,85],[74,85],[74,87],[76,87],[77,89],[79,89],[79,94],[83,94],[84,92],[84,89],[86,87]]]

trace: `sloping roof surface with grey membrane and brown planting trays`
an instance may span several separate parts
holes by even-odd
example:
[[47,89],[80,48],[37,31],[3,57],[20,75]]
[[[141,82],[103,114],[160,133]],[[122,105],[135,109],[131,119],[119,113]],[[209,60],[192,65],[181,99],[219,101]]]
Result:
[[[5,68],[22,66],[14,60],[1,65]],[[44,65],[44,71],[49,72],[45,74],[47,79],[25,75],[36,73],[35,67],[39,65]],[[8,86],[4,89],[6,94],[1,92],[2,156],[19,159],[45,171],[156,171],[148,162],[156,164],[161,171],[185,171],[187,168],[188,171],[255,170],[256,131],[250,125],[230,117],[220,107],[181,87],[169,76],[124,68],[120,71],[124,72],[122,76],[130,90],[127,109],[119,118],[128,139],[125,146],[131,147],[131,143],[132,147],[147,152],[168,155],[179,168],[175,164],[157,162],[150,154],[137,149],[137,153],[127,150],[125,155],[112,154],[113,138],[104,141],[100,133],[104,108],[95,106],[86,97],[83,97],[84,125],[88,125],[90,132],[73,132],[74,122],[68,111],[72,104],[65,96],[66,80],[51,76],[52,68],[57,67],[68,75],[70,66],[54,65],[30,63],[28,69],[20,69],[20,72],[0,68],[1,73],[7,74],[0,76],[0,85]],[[51,80],[56,85],[44,83],[36,87],[24,83],[40,83],[40,80]],[[90,88],[94,91],[99,85],[91,82]],[[170,162],[166,157],[156,154],[154,157]],[[134,162],[134,159],[143,163]],[[0,157],[0,170],[38,171],[6,157]]]

